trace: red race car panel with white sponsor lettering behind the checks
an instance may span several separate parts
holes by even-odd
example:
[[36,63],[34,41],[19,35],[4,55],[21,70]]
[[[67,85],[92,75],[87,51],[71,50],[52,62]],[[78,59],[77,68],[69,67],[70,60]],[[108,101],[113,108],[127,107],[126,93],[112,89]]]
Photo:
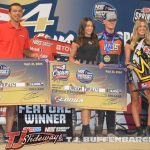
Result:
[[40,58],[54,60],[54,56],[69,56],[71,44],[52,40],[50,36],[40,33],[30,41],[30,50],[38,52]]

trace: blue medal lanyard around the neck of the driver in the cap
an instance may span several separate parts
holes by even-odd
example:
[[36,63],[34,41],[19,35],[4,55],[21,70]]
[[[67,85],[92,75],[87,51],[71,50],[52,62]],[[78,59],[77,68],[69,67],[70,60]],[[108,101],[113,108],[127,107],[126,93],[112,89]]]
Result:
[[112,41],[110,44],[108,44],[108,37],[106,36],[106,33],[104,33],[104,45],[105,45],[105,51],[108,54],[114,44],[115,41],[115,35],[113,35]]

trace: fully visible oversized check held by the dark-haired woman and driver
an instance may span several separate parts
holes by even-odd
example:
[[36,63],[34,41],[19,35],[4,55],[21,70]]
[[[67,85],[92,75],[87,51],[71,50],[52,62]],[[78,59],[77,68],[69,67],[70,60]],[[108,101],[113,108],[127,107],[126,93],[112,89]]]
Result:
[[72,108],[125,111],[126,69],[50,63],[51,103]]

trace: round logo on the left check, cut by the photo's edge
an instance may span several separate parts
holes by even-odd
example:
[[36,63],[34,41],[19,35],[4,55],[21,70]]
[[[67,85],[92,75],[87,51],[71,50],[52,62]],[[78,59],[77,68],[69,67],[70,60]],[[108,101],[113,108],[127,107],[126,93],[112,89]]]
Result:
[[10,68],[0,65],[0,79],[6,79],[10,75]]

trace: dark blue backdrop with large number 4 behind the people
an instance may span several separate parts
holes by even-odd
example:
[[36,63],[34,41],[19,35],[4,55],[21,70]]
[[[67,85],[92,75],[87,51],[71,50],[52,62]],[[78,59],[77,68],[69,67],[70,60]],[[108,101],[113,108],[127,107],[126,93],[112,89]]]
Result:
[[[116,8],[118,14],[117,31],[123,35],[124,41],[130,39],[134,20],[145,18],[149,21],[150,2],[148,0],[1,0],[0,2],[0,23],[9,20],[8,6],[12,2],[19,2],[24,7],[22,25],[26,26],[32,38],[35,34],[45,33],[53,39],[68,42],[74,40],[80,20],[89,16],[94,19],[94,7],[99,2],[105,2]],[[84,11],[83,11],[84,8]],[[144,8],[147,8],[146,10]],[[77,11],[78,10],[78,11]],[[147,13],[146,13],[147,12]],[[103,25],[95,21],[96,32],[103,30]],[[130,95],[127,94],[127,115],[119,113],[116,122],[125,128],[131,127],[131,104]],[[5,109],[1,109],[2,111]],[[5,116],[5,112],[2,112]],[[74,116],[76,116],[75,113]],[[79,118],[80,115],[75,118]],[[91,116],[93,118],[93,115]],[[4,118],[4,117],[3,117]],[[129,119],[130,118],[130,119]],[[81,130],[81,120],[76,124],[76,129]],[[0,123],[5,124],[4,119],[0,118]],[[130,124],[130,125],[129,125]],[[90,124],[94,129],[94,122]],[[39,130],[40,128],[36,128]]]

